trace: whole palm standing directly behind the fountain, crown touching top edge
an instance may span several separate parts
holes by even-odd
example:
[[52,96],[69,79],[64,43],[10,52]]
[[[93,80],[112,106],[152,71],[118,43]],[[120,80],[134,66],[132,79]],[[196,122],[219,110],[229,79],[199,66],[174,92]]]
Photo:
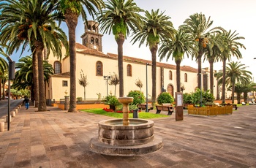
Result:
[[98,14],[97,20],[103,34],[113,31],[118,46],[119,96],[124,96],[123,44],[129,36],[129,29],[140,29],[142,9],[133,0],[108,0],[106,9]]

